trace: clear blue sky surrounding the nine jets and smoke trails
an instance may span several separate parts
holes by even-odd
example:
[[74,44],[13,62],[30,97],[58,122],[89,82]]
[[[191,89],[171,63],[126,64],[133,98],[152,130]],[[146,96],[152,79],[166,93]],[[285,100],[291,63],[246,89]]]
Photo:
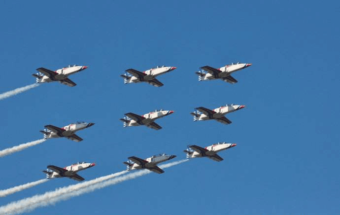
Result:
[[[176,154],[188,144],[238,143],[225,160],[194,159],[31,214],[335,215],[340,212],[339,1],[2,1],[0,93],[34,82],[36,68],[89,68],[77,83],[43,84],[0,101],[1,149],[40,139],[46,124],[96,123],[75,143],[53,139],[0,158],[0,189],[44,177],[49,164],[96,162],[94,179],[127,157]],[[199,67],[252,63],[238,83],[198,82]],[[163,87],[124,85],[126,69],[177,67]],[[231,125],[193,122],[194,107],[245,105]],[[163,127],[123,128],[155,108]],[[53,179],[0,205],[74,184]]]

